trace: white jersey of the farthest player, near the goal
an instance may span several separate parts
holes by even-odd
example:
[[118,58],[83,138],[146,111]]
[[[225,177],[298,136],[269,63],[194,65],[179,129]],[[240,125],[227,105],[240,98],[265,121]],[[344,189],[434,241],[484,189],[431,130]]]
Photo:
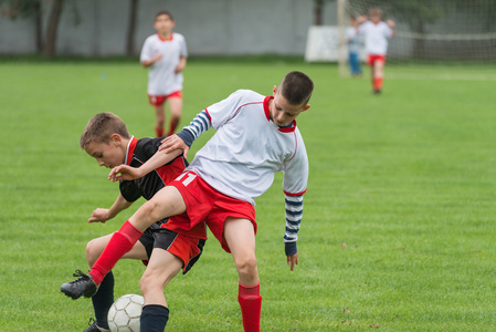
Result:
[[383,21],[374,24],[367,21],[358,27],[358,32],[365,35],[366,51],[368,54],[386,55],[388,40],[392,35],[391,28]]

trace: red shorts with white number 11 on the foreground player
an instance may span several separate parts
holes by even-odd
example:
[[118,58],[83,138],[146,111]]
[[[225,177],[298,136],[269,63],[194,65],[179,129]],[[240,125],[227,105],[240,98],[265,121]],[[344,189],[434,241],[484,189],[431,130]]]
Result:
[[[228,217],[249,219],[256,235],[255,208],[247,201],[235,199],[212,188],[193,172],[184,172],[169,184],[181,193],[187,216],[175,216],[169,222],[183,229],[191,229],[205,221],[222,248],[231,252],[223,237]],[[188,218],[189,217],[189,218]]]

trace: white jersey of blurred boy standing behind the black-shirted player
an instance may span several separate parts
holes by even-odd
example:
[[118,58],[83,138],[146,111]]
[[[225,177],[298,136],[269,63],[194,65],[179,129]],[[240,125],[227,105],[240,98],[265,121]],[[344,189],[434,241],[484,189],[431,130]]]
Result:
[[148,94],[169,95],[181,91],[183,76],[182,73],[175,73],[175,70],[179,59],[188,56],[184,37],[180,33],[172,33],[170,40],[163,40],[158,34],[148,37],[139,61],[149,61],[158,54],[162,54],[162,59],[151,64],[148,72]]

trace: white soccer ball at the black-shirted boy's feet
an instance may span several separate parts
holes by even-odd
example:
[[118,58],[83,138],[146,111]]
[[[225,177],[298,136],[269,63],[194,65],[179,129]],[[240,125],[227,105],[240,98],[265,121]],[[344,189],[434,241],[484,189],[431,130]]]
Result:
[[118,298],[108,310],[112,332],[139,332],[139,317],[145,300],[141,295],[127,294]]

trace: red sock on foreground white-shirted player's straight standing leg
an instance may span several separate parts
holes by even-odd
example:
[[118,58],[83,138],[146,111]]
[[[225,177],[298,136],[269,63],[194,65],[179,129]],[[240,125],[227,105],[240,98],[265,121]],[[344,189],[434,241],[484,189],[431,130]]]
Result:
[[262,297],[260,295],[260,283],[245,287],[240,283],[238,301],[243,317],[245,332],[260,332],[260,315],[262,311]]

